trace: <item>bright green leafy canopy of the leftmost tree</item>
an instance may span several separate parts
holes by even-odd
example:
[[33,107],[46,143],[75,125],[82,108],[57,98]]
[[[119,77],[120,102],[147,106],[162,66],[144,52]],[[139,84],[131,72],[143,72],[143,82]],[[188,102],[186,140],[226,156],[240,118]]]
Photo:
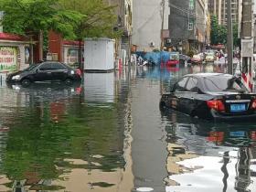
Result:
[[66,37],[75,37],[74,27],[83,17],[62,9],[58,0],[5,0],[0,5],[5,11],[4,30],[20,35],[53,29]]

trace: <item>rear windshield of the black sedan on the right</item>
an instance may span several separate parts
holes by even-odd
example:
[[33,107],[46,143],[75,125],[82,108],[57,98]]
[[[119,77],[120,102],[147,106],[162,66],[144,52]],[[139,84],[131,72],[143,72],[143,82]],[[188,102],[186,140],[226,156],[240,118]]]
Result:
[[242,82],[230,75],[216,75],[204,78],[206,91],[219,92],[219,91],[242,91],[248,90]]

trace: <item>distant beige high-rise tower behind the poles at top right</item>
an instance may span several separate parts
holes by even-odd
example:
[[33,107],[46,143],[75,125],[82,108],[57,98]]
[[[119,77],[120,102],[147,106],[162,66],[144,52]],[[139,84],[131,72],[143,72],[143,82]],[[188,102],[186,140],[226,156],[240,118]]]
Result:
[[[218,18],[219,25],[227,23],[227,1],[228,0],[208,0],[208,10],[211,15]],[[241,1],[231,0],[231,17],[233,23],[240,23]]]

